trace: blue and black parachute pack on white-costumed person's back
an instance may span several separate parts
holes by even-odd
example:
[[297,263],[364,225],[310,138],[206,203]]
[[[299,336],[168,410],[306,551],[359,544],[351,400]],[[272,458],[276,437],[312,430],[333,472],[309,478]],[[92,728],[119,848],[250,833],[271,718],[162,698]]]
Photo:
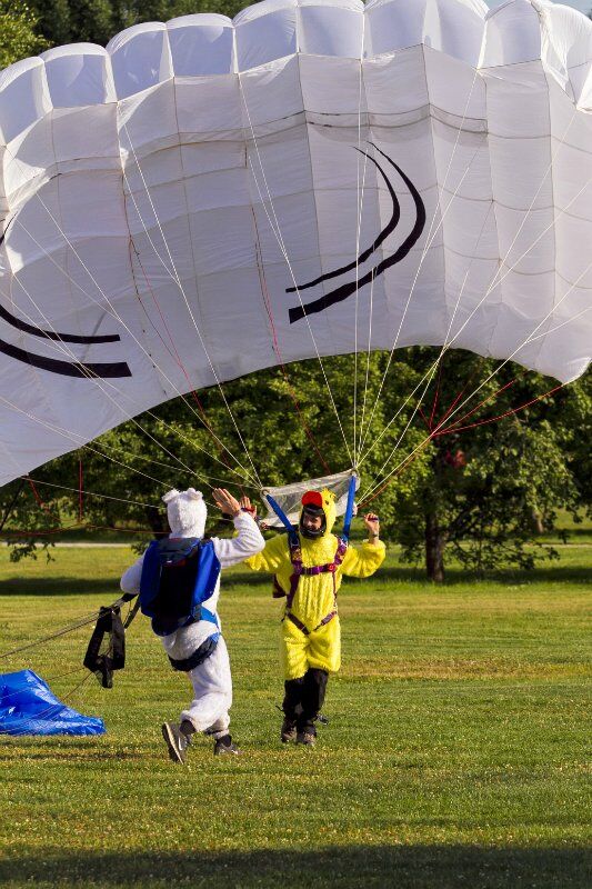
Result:
[[219,576],[220,561],[211,540],[152,540],[142,563],[142,615],[152,619],[158,636],[169,636],[198,620],[218,626],[215,615],[203,602],[212,596]]

